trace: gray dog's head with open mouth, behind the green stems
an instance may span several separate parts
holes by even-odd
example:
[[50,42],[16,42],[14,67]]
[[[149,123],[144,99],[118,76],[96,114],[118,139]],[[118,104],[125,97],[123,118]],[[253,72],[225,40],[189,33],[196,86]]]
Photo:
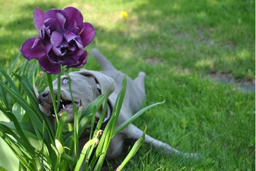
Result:
[[[79,72],[71,72],[69,75],[74,103],[77,108],[82,105],[83,112],[100,94],[107,92],[110,88],[110,93],[112,93],[115,89],[114,80],[97,71],[82,69]],[[57,80],[53,81],[53,89],[55,99],[57,99]],[[42,113],[50,117],[55,117],[49,87],[38,95],[37,100]],[[60,118],[59,115],[63,111],[66,111],[69,115],[66,122],[71,122],[74,119],[73,105],[69,89],[69,79],[66,75],[61,76],[60,105],[57,110],[58,118]]]

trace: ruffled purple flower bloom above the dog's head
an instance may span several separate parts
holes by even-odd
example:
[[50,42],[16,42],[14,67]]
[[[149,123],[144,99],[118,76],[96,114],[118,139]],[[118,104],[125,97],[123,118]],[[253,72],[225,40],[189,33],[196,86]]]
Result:
[[25,58],[37,59],[41,69],[49,74],[60,73],[61,65],[81,68],[86,64],[87,51],[83,48],[93,40],[95,30],[90,23],[83,23],[80,11],[67,7],[44,13],[36,8],[33,19],[39,33],[20,48]]

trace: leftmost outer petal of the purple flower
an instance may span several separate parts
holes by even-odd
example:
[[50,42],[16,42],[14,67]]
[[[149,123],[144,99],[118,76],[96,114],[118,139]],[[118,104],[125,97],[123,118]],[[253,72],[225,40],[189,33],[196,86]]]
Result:
[[33,58],[39,59],[46,55],[44,48],[42,48],[40,44],[37,44],[32,48],[34,41],[35,37],[30,38],[22,44],[22,47],[20,47],[20,52],[28,60]]

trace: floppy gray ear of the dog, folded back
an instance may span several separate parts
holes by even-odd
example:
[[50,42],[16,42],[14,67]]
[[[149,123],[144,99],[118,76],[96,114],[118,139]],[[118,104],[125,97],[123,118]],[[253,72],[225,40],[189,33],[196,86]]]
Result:
[[106,76],[98,71],[81,69],[80,71],[78,71],[78,73],[84,76],[87,76],[87,75],[93,76],[97,81],[97,83],[99,83],[101,94],[109,91],[110,88],[111,88],[110,90],[110,94],[111,94],[114,92],[116,88],[116,83],[114,82],[113,78]]

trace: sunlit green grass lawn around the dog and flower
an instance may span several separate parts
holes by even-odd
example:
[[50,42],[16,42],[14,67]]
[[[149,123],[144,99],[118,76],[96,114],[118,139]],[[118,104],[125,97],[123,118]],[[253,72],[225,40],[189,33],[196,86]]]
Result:
[[[143,145],[125,170],[255,169],[255,94],[208,77],[220,71],[255,79],[254,1],[12,0],[0,5],[1,66],[6,68],[22,43],[36,36],[36,7],[74,6],[96,29],[86,49],[98,48],[132,78],[144,71],[145,106],[161,101],[159,94],[166,98],[134,124],[141,129],[147,124],[147,134],[182,152],[204,156],[199,162],[170,158]],[[126,19],[121,11],[128,13]],[[85,68],[100,69],[91,55]]]

